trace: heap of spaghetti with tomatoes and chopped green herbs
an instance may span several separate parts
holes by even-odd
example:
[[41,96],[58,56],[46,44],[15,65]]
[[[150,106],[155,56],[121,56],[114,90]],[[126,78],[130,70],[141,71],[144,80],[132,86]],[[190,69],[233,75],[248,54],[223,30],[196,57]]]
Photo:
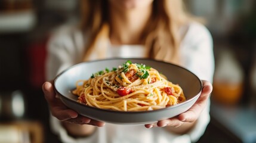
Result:
[[82,104],[116,111],[157,110],[186,100],[179,85],[152,67],[129,60],[79,80],[72,92]]

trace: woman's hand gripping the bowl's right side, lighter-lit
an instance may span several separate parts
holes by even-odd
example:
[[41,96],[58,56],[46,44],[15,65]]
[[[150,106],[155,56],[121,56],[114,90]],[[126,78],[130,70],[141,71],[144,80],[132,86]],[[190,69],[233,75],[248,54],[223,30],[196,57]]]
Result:
[[209,98],[209,95],[212,92],[212,85],[211,83],[202,80],[203,82],[203,89],[200,97],[195,102],[195,104],[186,112],[181,113],[180,115],[166,119],[161,120],[157,123],[153,124],[147,124],[145,125],[146,128],[152,128],[152,127],[164,127],[169,126],[173,128],[169,128],[169,130],[176,132],[176,133],[184,133],[190,128],[192,128],[195,121],[198,119],[199,115],[203,111],[203,109],[206,107],[207,100]]

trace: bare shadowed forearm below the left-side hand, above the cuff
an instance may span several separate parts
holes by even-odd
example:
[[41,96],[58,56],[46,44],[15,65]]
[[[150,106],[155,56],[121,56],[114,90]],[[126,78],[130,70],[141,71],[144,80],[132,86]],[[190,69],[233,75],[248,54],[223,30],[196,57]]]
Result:
[[62,122],[62,126],[67,130],[69,135],[76,137],[89,136],[94,133],[96,127],[92,125],[78,125],[75,123]]

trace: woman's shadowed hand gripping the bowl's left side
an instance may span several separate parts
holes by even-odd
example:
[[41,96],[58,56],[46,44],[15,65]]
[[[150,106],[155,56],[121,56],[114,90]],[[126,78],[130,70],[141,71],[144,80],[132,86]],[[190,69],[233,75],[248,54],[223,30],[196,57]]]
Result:
[[58,98],[58,94],[55,93],[53,88],[53,82],[45,82],[42,85],[45,99],[48,102],[51,114],[58,120],[68,123],[75,123],[77,125],[93,125],[93,126],[104,126],[104,122],[92,120],[88,117],[81,116],[76,111],[71,110],[61,102]]

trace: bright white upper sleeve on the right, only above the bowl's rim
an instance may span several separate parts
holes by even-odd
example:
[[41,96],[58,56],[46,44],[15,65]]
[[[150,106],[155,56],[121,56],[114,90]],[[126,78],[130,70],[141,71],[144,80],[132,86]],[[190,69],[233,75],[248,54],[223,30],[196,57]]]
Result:
[[181,61],[201,80],[212,82],[215,64],[212,36],[202,24],[190,24],[181,42]]

